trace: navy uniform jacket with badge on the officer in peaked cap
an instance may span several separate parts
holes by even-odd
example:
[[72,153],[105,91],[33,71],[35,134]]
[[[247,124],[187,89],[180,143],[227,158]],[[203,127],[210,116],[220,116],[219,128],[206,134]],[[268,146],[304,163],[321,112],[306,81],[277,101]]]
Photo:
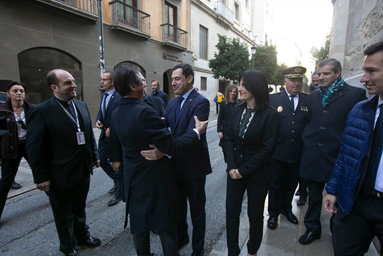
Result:
[[286,163],[296,163],[301,160],[303,142],[301,139],[308,113],[308,94],[300,92],[298,105],[293,110],[290,97],[286,90],[270,94],[270,104],[278,109],[280,128],[277,149],[273,159]]

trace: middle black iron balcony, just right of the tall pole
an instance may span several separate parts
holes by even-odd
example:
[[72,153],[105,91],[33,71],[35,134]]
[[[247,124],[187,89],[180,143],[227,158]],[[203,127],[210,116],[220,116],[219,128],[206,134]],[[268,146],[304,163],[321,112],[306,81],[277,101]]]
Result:
[[112,28],[128,32],[143,39],[151,38],[150,15],[137,8],[115,0],[112,6]]

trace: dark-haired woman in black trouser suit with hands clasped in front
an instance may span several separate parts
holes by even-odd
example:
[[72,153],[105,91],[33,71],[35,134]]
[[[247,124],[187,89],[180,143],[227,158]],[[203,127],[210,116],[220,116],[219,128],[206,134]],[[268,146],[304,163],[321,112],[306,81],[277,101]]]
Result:
[[258,70],[245,71],[239,78],[238,92],[244,104],[232,112],[226,134],[228,179],[226,226],[228,255],[237,256],[239,215],[247,190],[250,238],[247,255],[256,255],[262,241],[263,213],[271,182],[269,160],[278,141],[279,114],[269,104],[268,83]]

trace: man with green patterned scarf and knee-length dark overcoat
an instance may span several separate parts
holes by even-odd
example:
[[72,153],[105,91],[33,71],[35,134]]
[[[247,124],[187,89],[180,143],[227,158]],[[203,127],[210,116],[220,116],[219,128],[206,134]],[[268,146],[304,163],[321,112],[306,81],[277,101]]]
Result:
[[359,101],[367,99],[363,88],[350,86],[336,59],[318,64],[319,88],[309,94],[307,124],[302,133],[303,154],[300,177],[308,180],[309,203],[300,244],[321,238],[322,192],[329,181],[339,153],[347,115]]

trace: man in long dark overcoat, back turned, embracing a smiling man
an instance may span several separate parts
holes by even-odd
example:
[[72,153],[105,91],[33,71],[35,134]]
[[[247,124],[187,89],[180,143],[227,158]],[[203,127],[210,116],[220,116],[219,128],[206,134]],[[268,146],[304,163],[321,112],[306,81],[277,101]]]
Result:
[[[125,227],[129,214],[138,256],[151,254],[150,230],[158,230],[164,255],[177,256],[176,224],[181,215],[172,160],[164,156],[148,161],[141,151],[151,149],[149,145],[154,144],[165,154],[176,156],[198,144],[200,133],[206,131],[207,121],[198,122],[197,119],[197,129],[175,139],[159,114],[142,101],[146,83],[136,67],[116,68],[114,83],[116,91],[124,96],[112,114],[110,143],[121,145],[123,149]],[[113,165],[114,161],[119,161],[120,154],[110,152]]]

